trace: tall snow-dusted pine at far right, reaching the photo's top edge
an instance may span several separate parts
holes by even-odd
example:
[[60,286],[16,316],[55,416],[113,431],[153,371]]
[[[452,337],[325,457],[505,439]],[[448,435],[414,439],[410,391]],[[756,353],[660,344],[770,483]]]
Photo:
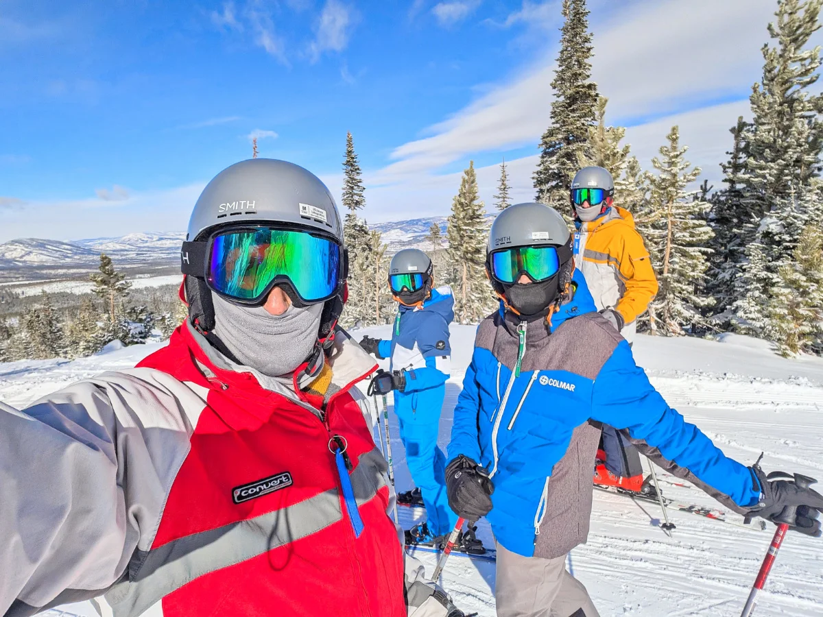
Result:
[[[821,6],[823,0],[778,3],[777,21],[769,24],[776,44],[762,48],[763,78],[750,97],[753,124],[746,168],[756,222],[744,232],[746,264],[737,277],[733,307],[737,329],[756,336],[769,336],[768,304],[777,293],[778,273],[793,261],[800,234],[814,216],[810,207],[819,204],[810,193],[820,174],[823,95],[809,89],[819,77],[821,48],[803,48],[821,27]],[[753,271],[760,259],[763,273]]]

